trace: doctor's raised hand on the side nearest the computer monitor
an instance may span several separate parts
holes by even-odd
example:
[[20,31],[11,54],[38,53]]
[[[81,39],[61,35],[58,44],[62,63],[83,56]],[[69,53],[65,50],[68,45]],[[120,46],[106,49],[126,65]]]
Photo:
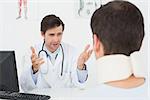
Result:
[[43,58],[39,58],[37,56],[35,49],[32,46],[31,46],[31,51],[32,51],[32,55],[31,55],[32,70],[33,73],[35,74],[40,69],[40,65],[44,63],[44,60]]

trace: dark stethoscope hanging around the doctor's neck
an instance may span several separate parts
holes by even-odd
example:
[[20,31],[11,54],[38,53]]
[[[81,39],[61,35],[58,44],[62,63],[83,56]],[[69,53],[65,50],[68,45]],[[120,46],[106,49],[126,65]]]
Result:
[[[40,57],[41,53],[45,53],[46,57],[49,58],[49,60],[50,60],[49,54],[44,50],[44,45],[45,45],[45,41],[43,42],[42,49],[38,53],[38,57]],[[63,75],[63,66],[64,66],[64,50],[63,50],[63,47],[62,47],[61,44],[60,44],[60,47],[61,47],[61,50],[62,50],[62,63],[61,63],[61,74],[60,75],[62,76]],[[57,58],[57,56],[58,56],[58,54],[56,55],[55,59]],[[47,68],[48,68],[48,65],[47,65]],[[46,73],[48,73],[48,69],[47,69]]]

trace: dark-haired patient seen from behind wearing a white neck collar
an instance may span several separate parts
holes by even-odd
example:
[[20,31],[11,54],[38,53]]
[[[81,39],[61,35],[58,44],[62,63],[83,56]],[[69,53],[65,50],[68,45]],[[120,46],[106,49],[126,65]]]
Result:
[[144,66],[138,67],[135,60],[144,38],[144,22],[140,10],[127,1],[109,2],[92,15],[91,29],[97,59],[98,86],[95,90],[90,90],[94,92],[90,94],[129,97],[133,94],[143,95]]

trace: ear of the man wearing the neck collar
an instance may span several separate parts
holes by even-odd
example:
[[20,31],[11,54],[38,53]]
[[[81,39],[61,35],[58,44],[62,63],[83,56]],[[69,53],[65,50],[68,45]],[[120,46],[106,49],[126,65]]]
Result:
[[95,52],[96,59],[98,59],[101,56],[104,56],[104,48],[100,39],[98,38],[96,34],[93,35],[93,40],[94,40],[93,50]]

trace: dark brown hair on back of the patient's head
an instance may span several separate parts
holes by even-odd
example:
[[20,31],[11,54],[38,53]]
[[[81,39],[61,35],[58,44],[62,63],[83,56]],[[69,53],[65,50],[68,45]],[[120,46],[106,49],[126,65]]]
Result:
[[144,21],[140,10],[130,2],[116,0],[97,9],[91,18],[92,33],[104,46],[104,54],[139,51],[144,38]]

